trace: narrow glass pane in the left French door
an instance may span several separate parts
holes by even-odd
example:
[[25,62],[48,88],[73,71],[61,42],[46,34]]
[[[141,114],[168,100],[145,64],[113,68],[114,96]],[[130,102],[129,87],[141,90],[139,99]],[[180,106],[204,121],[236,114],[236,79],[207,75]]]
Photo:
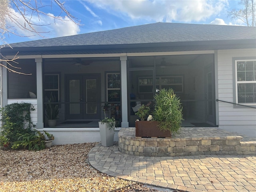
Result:
[[[80,80],[69,80],[69,102],[80,102]],[[80,114],[80,104],[70,104],[70,114]]]

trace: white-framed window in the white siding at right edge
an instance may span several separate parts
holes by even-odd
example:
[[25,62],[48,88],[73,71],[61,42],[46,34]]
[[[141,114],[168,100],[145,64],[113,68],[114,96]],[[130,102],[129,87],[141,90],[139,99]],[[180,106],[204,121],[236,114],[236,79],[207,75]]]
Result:
[[256,104],[256,60],[235,60],[236,101]]

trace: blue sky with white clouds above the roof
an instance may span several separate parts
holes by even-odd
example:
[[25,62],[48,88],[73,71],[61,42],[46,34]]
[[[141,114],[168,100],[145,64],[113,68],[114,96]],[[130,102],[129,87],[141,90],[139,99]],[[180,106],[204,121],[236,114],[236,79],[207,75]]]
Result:
[[[37,35],[15,27],[14,22],[7,20],[7,24],[15,28],[13,32],[16,35],[5,34],[2,42],[11,44],[155,22],[244,25],[238,19],[231,20],[227,17],[228,11],[240,8],[238,2],[239,0],[65,0],[65,8],[80,20],[80,25],[60,14],[58,6],[53,4],[52,7],[43,7],[42,11],[52,16],[62,16],[64,21],[45,15],[40,15],[40,18],[33,15],[32,21],[37,24],[34,27],[43,32]],[[51,0],[42,0],[42,4],[50,5]],[[14,8],[12,3],[10,6]],[[20,23],[24,23],[17,9],[11,11]],[[26,16],[29,19],[30,13]]]

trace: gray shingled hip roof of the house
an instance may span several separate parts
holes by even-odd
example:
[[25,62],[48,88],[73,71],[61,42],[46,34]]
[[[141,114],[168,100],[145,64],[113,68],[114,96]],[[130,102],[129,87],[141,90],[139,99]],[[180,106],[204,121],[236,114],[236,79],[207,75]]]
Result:
[[[176,48],[185,45],[206,46],[223,44],[223,41],[236,42],[236,44],[241,44],[241,42],[248,44],[250,42],[254,47],[255,40],[255,27],[158,22],[10,45],[13,48],[12,51],[22,50],[26,51],[27,54],[32,54],[32,52],[33,54],[43,54],[49,49],[59,52],[54,54],[68,54],[67,50],[73,50],[73,52],[77,50],[74,53],[80,53],[78,50],[90,49],[92,51],[92,49],[97,49],[99,52],[100,49],[112,48],[112,52],[130,52],[129,49],[131,48],[143,51],[142,47],[148,50],[148,47],[152,46],[176,46]],[[10,49],[6,47],[1,51],[9,52]]]

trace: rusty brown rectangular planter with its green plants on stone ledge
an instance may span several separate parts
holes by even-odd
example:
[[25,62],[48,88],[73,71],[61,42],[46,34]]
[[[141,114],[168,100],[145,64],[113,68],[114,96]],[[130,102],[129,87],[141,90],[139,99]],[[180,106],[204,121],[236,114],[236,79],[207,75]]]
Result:
[[[178,133],[182,122],[182,106],[180,99],[172,89],[162,89],[154,96],[153,121],[136,121],[137,137],[172,137]],[[141,106],[136,113],[143,116],[147,112]]]

